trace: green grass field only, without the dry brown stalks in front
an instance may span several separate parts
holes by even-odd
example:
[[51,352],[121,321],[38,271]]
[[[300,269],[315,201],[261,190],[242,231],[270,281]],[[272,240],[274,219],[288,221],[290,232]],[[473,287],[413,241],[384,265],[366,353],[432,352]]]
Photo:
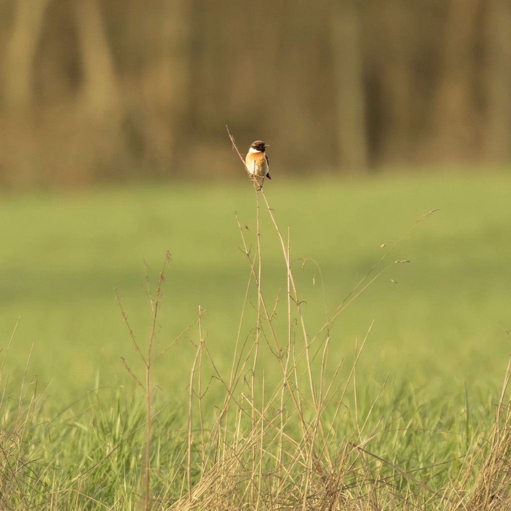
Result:
[[[345,423],[338,426],[344,424],[346,429],[336,429],[334,436],[342,442],[353,428],[358,431],[357,441],[366,438],[367,449],[404,471],[418,471],[414,476],[435,491],[444,489],[456,470],[463,472],[463,456],[474,452],[481,438],[489,437],[493,405],[501,392],[511,323],[509,190],[509,173],[344,180],[275,176],[265,183],[266,197],[286,239],[289,227],[292,271],[309,339],[392,248],[361,287],[380,270],[383,273],[332,324],[323,380],[333,378],[341,360],[339,378],[348,379],[356,343],[360,345],[374,322],[357,363],[357,394],[350,384],[343,401],[348,411],[343,415]],[[436,208],[439,211],[424,217]],[[257,258],[255,194],[241,179],[1,198],[3,346],[20,316],[3,369],[2,385],[11,393],[3,400],[3,425],[12,428],[33,344],[24,388],[32,375],[37,375],[39,393],[49,385],[35,407],[37,413],[27,421],[31,426],[26,438],[32,447],[26,454],[42,460],[38,470],[43,474],[34,479],[44,483],[44,490],[31,493],[40,508],[69,508],[65,505],[76,502],[76,509],[131,509],[143,494],[143,392],[120,357],[141,377],[144,371],[115,296],[121,298],[135,338],[145,345],[152,311],[144,264],[154,290],[167,250],[172,261],[165,273],[156,353],[189,325],[192,328],[152,368],[152,384],[158,386],[156,403],[170,403],[153,426],[153,508],[168,508],[187,486],[182,435],[187,436],[199,305],[206,311],[202,337],[224,378],[230,374],[238,330],[240,342],[250,343],[255,337],[257,288],[251,281],[244,307],[250,266],[240,249],[236,213],[250,253]],[[261,289],[269,308],[275,308],[275,332],[287,342],[287,269],[263,201],[260,243]],[[410,262],[394,263],[397,260]],[[258,399],[263,399],[263,389],[269,392],[282,380],[271,343],[263,341],[269,338],[264,321],[263,331],[255,375]],[[293,335],[296,345],[303,347],[299,321]],[[323,335],[315,341],[320,349],[311,362],[316,386],[321,381],[323,341]],[[311,354],[316,353],[316,345]],[[244,377],[249,380],[246,369]],[[211,379],[214,374],[205,361],[206,429],[213,428],[225,394],[218,378]],[[335,398],[333,393],[328,410]],[[48,422],[52,417],[56,419]],[[198,427],[194,423],[194,430]],[[142,429],[133,433],[137,428]],[[292,421],[290,428],[299,429]],[[382,433],[372,434],[373,428]],[[118,441],[120,447],[104,459],[108,446]],[[197,459],[198,451],[194,451]],[[197,459],[192,482],[200,477]],[[367,463],[368,471],[385,472]],[[394,469],[390,472],[399,476],[394,482],[405,493],[408,485],[415,484],[402,474],[396,476]],[[475,480],[470,475],[467,487]],[[425,508],[439,508],[423,491],[419,486],[414,493],[415,504],[421,501]],[[66,504],[59,504],[56,495],[65,495]],[[19,502],[12,508],[22,508]],[[251,505],[257,507],[254,502]],[[387,507],[382,503],[377,508],[394,508],[391,504],[395,507],[389,501]]]

